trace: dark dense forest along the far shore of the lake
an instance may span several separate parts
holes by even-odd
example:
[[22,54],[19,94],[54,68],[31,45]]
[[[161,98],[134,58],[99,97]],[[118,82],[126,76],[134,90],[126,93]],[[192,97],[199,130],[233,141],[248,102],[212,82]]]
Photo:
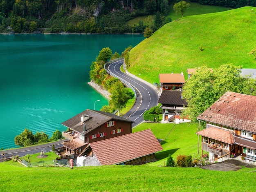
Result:
[[[170,22],[180,0],[0,0],[0,33],[143,33]],[[255,0],[191,0],[225,7],[256,6]],[[139,23],[127,21],[148,16]]]

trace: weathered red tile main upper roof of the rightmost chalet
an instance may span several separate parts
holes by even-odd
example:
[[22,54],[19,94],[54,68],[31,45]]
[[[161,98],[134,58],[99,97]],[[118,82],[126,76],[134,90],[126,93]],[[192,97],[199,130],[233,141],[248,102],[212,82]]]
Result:
[[256,133],[256,96],[226,92],[198,119]]

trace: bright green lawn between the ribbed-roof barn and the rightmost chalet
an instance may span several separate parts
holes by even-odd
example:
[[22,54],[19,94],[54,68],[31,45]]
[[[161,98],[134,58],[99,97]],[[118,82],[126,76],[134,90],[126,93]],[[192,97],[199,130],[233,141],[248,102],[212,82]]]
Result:
[[[161,145],[163,151],[156,153],[156,158],[159,161],[149,163],[149,165],[162,165],[169,154],[173,158],[178,155],[192,155],[192,159],[201,157],[201,143],[198,154],[198,136],[196,132],[196,124],[190,123],[141,123],[132,129],[132,132],[151,129],[157,139],[163,139]],[[182,133],[182,134],[181,134]]]

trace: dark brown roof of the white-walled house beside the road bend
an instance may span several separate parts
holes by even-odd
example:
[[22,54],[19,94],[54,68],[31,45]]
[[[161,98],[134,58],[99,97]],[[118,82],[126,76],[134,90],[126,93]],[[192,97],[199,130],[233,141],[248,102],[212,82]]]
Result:
[[158,103],[168,104],[168,105],[187,105],[186,100],[182,99],[182,92],[163,90]]

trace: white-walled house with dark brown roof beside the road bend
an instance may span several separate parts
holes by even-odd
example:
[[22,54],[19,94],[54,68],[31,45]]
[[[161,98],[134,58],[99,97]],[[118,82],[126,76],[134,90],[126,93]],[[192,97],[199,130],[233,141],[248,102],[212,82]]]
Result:
[[188,118],[181,118],[182,110],[186,109],[186,100],[182,99],[181,91],[163,90],[158,103],[162,104],[163,121],[175,123],[190,122]]

